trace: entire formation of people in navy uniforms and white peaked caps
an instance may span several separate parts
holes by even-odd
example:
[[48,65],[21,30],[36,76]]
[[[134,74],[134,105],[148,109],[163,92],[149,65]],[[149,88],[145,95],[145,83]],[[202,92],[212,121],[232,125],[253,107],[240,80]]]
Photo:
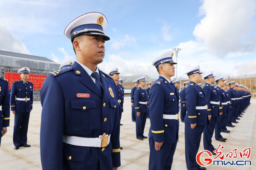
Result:
[[[41,88],[40,150],[45,170],[117,170],[121,165],[123,79],[119,79],[118,68],[106,74],[97,66],[105,56],[104,43],[110,40],[106,28],[105,16],[92,12],[70,22],[64,31],[76,61],[63,63],[58,71],[51,72]],[[186,72],[189,81],[179,91],[180,82],[171,81],[177,64],[172,57],[173,51],[169,51],[152,62],[159,78],[153,84],[148,82],[147,89],[145,76],[133,82],[131,119],[136,122],[136,138],[149,138],[149,170],[171,169],[180,117],[185,123],[186,167],[204,170],[196,162],[202,133],[204,149],[216,154],[211,141],[214,130],[216,140],[227,140],[221,133],[230,133],[227,127],[235,127],[232,123],[238,123],[250,105],[250,89],[234,81],[225,82],[223,77],[214,79],[213,72],[204,75],[206,84],[201,88],[203,73],[197,66]],[[26,135],[33,104],[33,84],[27,81],[29,68],[23,67],[18,73],[21,80],[13,83],[10,98],[7,80],[0,79],[2,136],[9,126],[11,108],[15,149],[30,146]],[[148,137],[144,134],[147,117],[151,124]]]

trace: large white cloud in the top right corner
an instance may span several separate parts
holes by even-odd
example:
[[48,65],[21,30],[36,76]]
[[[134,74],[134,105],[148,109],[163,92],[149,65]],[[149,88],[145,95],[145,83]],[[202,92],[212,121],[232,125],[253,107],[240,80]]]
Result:
[[216,56],[256,51],[254,0],[203,0],[193,35]]

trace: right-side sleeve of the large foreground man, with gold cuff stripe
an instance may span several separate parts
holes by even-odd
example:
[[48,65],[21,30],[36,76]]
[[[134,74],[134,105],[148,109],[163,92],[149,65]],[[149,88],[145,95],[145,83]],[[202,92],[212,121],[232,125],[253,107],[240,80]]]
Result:
[[[116,85],[114,85],[117,87]],[[118,95],[118,88],[116,89],[116,94]],[[110,136],[110,141],[112,144],[112,164],[113,167],[120,167],[121,166],[121,156],[120,156],[120,116],[119,116],[119,109],[116,107],[115,109],[115,118],[114,118],[114,127],[113,131]]]

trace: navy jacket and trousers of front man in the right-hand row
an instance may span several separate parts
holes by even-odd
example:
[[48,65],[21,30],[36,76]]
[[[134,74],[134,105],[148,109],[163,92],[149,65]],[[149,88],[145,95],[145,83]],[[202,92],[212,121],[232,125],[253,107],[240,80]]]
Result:
[[[179,96],[172,82],[159,76],[150,90],[149,96],[149,170],[170,170],[173,155],[177,146],[179,121],[164,119],[163,115],[177,115],[179,112]],[[164,142],[159,151],[156,142]]]

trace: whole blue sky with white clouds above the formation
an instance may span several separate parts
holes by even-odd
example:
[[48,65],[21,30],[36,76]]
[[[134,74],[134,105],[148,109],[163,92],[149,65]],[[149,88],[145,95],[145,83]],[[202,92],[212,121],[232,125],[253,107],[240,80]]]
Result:
[[64,30],[92,11],[108,20],[98,65],[106,73],[118,67],[120,76],[157,79],[151,63],[181,48],[173,56],[178,79],[198,65],[217,77],[256,74],[255,0],[0,0],[0,50],[75,61]]

